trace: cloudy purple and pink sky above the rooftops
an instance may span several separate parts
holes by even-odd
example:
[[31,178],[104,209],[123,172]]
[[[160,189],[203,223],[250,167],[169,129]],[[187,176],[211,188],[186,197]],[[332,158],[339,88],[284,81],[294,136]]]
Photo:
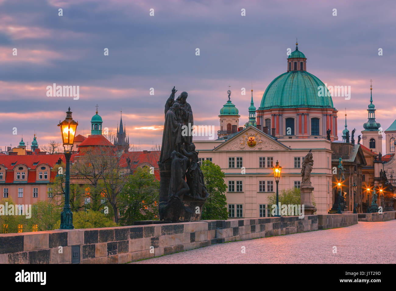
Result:
[[[286,72],[296,38],[308,72],[351,88],[349,100],[333,97],[339,139],[345,108],[355,139],[364,129],[370,80],[385,130],[396,119],[395,14],[392,0],[0,0],[0,148],[23,135],[30,149],[34,132],[40,148],[61,142],[57,124],[69,106],[77,133],[87,136],[98,105],[103,128],[116,131],[122,110],[129,142],[150,150],[162,141],[173,86],[177,96],[188,92],[194,124],[216,130],[230,86],[244,124],[251,84],[258,108],[268,84]],[[53,83],[79,86],[79,98],[47,96]]]

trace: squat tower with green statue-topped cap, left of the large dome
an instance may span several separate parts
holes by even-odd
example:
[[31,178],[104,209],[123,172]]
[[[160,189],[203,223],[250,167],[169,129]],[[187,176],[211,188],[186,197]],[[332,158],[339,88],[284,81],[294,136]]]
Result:
[[219,138],[225,135],[229,135],[233,132],[237,132],[239,127],[239,118],[240,118],[240,115],[238,114],[239,111],[235,107],[235,105],[231,103],[230,100],[231,91],[228,90],[227,94],[228,94],[228,101],[223,106],[223,108],[220,109],[220,115],[219,115],[220,130],[217,132]]

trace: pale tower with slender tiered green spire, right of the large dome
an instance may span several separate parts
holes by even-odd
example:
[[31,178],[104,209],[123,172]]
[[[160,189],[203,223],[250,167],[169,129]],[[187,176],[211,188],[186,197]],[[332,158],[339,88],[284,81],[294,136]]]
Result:
[[[370,82],[372,82],[370,80]],[[370,85],[371,97],[370,104],[368,106],[368,121],[363,124],[364,130],[362,130],[362,143],[367,148],[373,150],[373,152],[381,152],[382,150],[382,132],[380,133],[381,124],[375,121],[375,106],[373,104],[373,86]]]

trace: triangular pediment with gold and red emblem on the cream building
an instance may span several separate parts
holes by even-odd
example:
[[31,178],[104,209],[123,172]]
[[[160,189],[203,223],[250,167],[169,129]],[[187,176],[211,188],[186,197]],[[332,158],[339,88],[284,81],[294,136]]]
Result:
[[290,150],[290,148],[256,127],[249,126],[213,150]]

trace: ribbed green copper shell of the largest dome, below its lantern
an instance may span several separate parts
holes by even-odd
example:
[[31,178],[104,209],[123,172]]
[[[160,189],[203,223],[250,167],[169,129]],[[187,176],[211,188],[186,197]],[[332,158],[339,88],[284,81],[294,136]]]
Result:
[[[318,89],[322,86],[323,90]],[[307,71],[290,71],[276,77],[264,92],[259,110],[270,108],[334,108],[327,87]]]

